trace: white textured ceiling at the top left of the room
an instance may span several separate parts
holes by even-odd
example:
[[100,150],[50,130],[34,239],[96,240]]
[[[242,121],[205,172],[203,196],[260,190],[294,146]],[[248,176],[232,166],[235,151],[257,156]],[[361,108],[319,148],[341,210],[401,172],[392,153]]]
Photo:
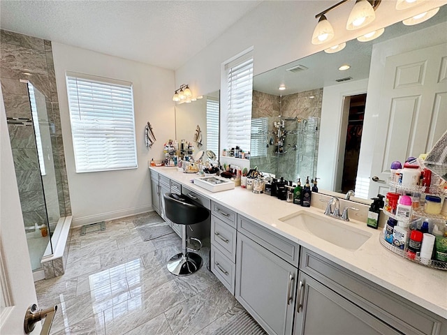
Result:
[[0,27],[177,69],[261,1],[0,1]]

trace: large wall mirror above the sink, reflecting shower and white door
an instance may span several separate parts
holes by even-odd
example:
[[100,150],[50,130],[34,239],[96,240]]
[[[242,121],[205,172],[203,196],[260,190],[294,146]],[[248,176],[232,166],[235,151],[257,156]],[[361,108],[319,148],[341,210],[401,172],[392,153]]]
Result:
[[445,31],[447,6],[415,26],[398,22],[375,40],[256,75],[251,166],[321,178],[321,193],[385,194],[390,163],[429,151],[446,131]]

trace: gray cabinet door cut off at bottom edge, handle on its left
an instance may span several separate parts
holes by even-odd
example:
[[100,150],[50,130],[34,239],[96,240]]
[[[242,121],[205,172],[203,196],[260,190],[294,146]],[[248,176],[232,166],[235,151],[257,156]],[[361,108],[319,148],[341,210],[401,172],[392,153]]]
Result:
[[401,334],[300,271],[294,335]]

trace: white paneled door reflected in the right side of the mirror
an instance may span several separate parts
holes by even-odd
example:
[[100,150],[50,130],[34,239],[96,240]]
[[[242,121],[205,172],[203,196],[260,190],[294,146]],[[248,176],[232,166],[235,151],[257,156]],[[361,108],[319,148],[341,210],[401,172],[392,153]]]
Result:
[[393,161],[430,151],[446,131],[447,44],[388,57],[382,87],[368,198],[388,192]]

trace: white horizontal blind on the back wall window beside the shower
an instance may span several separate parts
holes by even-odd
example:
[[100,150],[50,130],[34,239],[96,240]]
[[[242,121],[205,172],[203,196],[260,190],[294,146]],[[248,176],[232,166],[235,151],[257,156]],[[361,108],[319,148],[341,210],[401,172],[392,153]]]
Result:
[[137,168],[131,83],[67,73],[76,172]]

